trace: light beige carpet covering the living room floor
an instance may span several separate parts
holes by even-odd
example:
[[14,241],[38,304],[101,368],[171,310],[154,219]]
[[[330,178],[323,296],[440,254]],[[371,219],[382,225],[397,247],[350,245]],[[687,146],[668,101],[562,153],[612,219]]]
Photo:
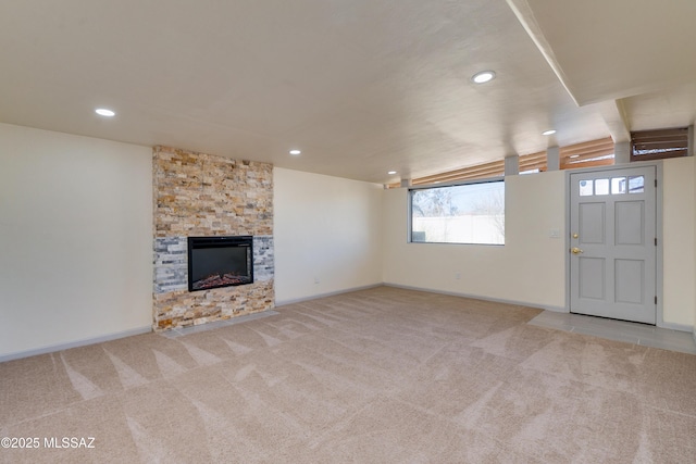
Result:
[[[692,463],[696,356],[389,287],[0,364],[0,462]],[[46,439],[94,437],[94,449]]]

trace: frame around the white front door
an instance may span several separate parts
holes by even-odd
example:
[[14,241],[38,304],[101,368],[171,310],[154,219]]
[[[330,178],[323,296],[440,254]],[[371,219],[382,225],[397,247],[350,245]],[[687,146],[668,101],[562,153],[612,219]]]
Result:
[[579,174],[579,173],[601,173],[607,172],[610,173],[612,171],[625,170],[630,167],[648,167],[655,166],[655,178],[657,179],[657,188],[655,189],[656,203],[655,203],[655,234],[657,236],[657,250],[655,255],[655,291],[657,293],[657,308],[656,308],[656,318],[655,326],[661,328],[669,328],[664,325],[664,321],[662,318],[663,313],[663,265],[662,265],[662,161],[637,161],[633,163],[625,164],[614,164],[611,166],[596,166],[596,167],[582,167],[577,170],[566,170],[566,191],[564,191],[564,201],[566,201],[566,239],[563,242],[563,250],[566,253],[566,312],[570,314],[570,298],[571,298],[571,273],[570,273],[570,247],[571,247],[571,238],[570,238],[570,210],[571,210],[571,195],[570,195],[570,175]]

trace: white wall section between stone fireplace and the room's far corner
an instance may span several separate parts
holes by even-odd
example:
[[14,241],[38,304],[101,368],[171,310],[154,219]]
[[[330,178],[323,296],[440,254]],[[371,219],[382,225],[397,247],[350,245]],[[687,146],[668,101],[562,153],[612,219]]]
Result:
[[382,283],[380,185],[275,167],[276,304]]

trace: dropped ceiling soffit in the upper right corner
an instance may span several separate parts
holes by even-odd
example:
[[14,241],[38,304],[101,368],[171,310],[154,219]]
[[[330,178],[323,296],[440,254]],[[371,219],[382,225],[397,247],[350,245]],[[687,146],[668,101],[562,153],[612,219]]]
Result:
[[507,1],[579,105],[696,80],[696,1]]

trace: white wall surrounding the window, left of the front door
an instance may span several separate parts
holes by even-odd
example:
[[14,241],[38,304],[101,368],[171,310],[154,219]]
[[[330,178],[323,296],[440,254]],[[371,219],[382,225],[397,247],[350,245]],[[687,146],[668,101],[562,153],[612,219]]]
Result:
[[[385,283],[554,310],[566,306],[562,172],[506,178],[504,247],[408,243],[407,196],[407,189],[385,192]],[[552,229],[559,238],[550,237]]]

